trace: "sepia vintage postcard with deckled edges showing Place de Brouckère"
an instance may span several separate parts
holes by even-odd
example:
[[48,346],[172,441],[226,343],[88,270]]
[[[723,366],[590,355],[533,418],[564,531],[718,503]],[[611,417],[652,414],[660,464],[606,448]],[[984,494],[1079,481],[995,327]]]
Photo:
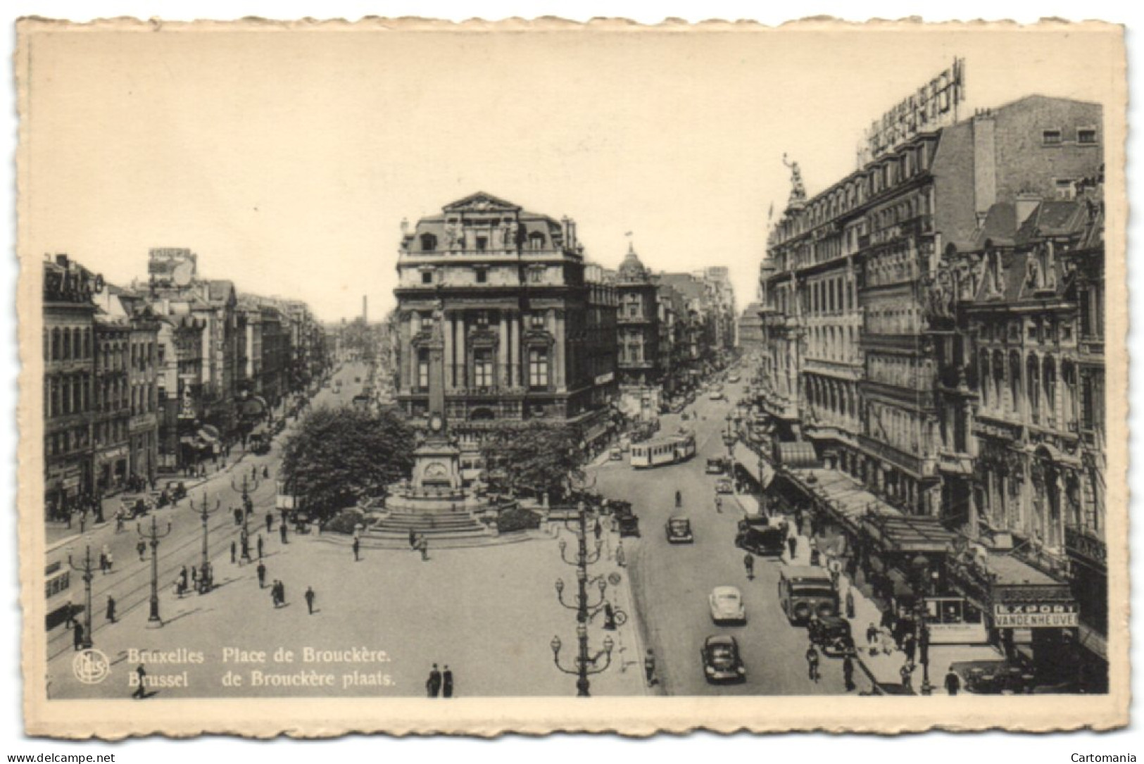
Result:
[[16,72],[30,734],[1127,724],[1123,29]]

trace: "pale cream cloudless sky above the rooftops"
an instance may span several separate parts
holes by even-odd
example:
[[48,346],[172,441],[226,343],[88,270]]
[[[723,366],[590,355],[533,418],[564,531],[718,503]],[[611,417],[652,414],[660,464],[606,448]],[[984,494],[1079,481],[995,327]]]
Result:
[[962,114],[1107,103],[1091,35],[904,32],[53,32],[29,47],[25,256],[112,282],[189,247],[207,278],[324,320],[392,305],[400,222],[475,191],[578,222],[588,257],[731,269],[740,309],[789,192],[855,169],[869,122],[966,58]]

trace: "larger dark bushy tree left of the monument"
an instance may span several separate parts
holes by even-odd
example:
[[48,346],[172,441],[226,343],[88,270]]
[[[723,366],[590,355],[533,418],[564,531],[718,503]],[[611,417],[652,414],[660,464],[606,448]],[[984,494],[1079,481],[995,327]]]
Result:
[[286,441],[283,475],[302,507],[328,517],[407,477],[413,446],[412,430],[392,411],[324,406]]

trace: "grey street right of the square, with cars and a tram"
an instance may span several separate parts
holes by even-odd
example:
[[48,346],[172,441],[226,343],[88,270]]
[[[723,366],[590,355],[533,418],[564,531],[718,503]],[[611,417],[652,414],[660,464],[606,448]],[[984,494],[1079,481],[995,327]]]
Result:
[[[705,475],[708,457],[725,456],[721,438],[725,416],[741,393],[741,384],[725,385],[726,400],[697,398],[688,412],[698,416],[682,422],[680,415],[661,417],[660,433],[681,424],[694,425],[696,457],[683,464],[634,470],[625,461],[609,461],[595,469],[596,488],[607,498],[633,503],[639,516],[642,538],[631,544],[629,571],[644,624],[644,634],[656,651],[661,690],[668,695],[709,694],[836,694],[844,693],[841,659],[820,659],[821,678],[808,678],[807,630],[791,626],[776,596],[776,558],[755,558],[755,580],[748,581],[744,551],[734,547],[736,524],[742,516],[738,503],[723,496],[716,512],[715,480]],[[683,494],[683,509],[675,509],[675,492]],[[693,544],[670,544],[664,531],[668,517],[680,512],[691,519]],[[635,541],[635,540],[633,540]],[[628,541],[625,541],[628,546]],[[715,626],[707,596],[717,586],[742,591],[746,626]],[[710,685],[699,656],[704,639],[730,634],[739,642],[747,679],[738,685]],[[869,689],[856,664],[853,692]]]

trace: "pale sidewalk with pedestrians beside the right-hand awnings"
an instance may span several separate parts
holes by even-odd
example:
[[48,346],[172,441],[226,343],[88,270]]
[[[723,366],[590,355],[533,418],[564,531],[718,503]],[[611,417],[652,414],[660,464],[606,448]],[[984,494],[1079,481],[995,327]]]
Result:
[[[795,527],[794,518],[787,518],[791,528]],[[785,565],[810,565],[810,539],[799,535],[797,555],[794,559],[789,552],[782,554]],[[825,563],[825,555],[823,555]],[[824,565],[825,567],[825,565]],[[906,662],[906,653],[893,645],[893,640],[880,628],[882,622],[883,606],[867,595],[860,584],[852,582],[843,571],[839,576],[839,602],[842,615],[845,616],[847,591],[852,592],[855,600],[855,615],[847,618],[850,621],[850,630],[853,636],[857,650],[858,664],[869,677],[875,686],[882,686],[890,692],[904,694],[920,694],[922,689],[922,666],[919,663],[911,679],[911,690],[901,687],[901,667]],[[879,628],[879,638],[873,645],[866,638],[866,630],[873,624]],[[950,664],[959,661],[971,660],[999,660],[1001,653],[992,645],[930,645],[929,648],[929,681],[934,687],[934,694],[945,694],[943,681],[950,670]],[[915,663],[919,653],[914,653]]]

